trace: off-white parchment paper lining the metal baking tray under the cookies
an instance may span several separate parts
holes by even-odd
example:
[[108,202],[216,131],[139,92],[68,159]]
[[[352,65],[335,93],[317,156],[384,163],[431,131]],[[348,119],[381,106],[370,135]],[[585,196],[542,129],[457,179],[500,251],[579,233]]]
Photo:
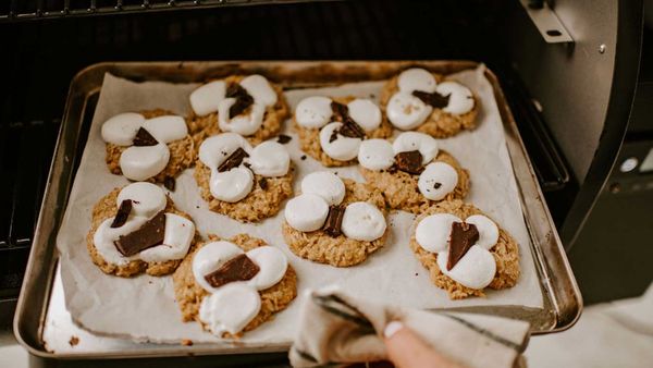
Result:
[[[533,265],[529,236],[523,222],[517,184],[505,145],[503,126],[491,84],[483,75],[483,66],[465,71],[455,78],[468,85],[481,100],[479,127],[448,139],[441,147],[458,159],[471,174],[471,191],[467,201],[476,205],[519,242],[521,275],[515,287],[488,291],[486,298],[449,300],[446,293],[435,287],[428,272],[408,248],[414,216],[393,213],[389,218],[391,236],[385,247],[366,262],[352,268],[334,268],[296,257],[281,235],[283,211],[259,224],[241,224],[227,217],[208,210],[193,179],[193,169],[186,170],[171,193],[177,208],[188,212],[198,231],[230,237],[248,233],[281,248],[298,274],[298,294],[307,289],[337,285],[355,295],[371,300],[391,302],[417,308],[522,305],[542,307],[542,294]],[[297,89],[286,93],[294,110],[297,102],[309,95],[371,97],[378,101],[383,83],[358,83],[332,88]],[[174,300],[172,278],[139,275],[123,279],[102,273],[86,250],[85,236],[90,226],[93,206],[114,187],[128,184],[120,175],[111,174],[104,163],[104,143],[100,126],[108,118],[125,111],[165,108],[178,114],[189,111],[188,95],[193,84],[162,82],[133,83],[104,76],[84,155],[77,171],[70,201],[57,244],[61,253],[61,275],[65,304],[73,320],[86,330],[101,335],[120,336],[140,342],[178,343],[182,339],[194,342],[220,341],[202,332],[198,323],[183,323]],[[293,137],[286,145],[292,160],[297,164],[295,189],[309,172],[322,167],[298,148],[296,134],[285,124],[285,134]],[[356,167],[330,169],[344,177],[362,181]],[[242,343],[286,343],[295,331],[298,302],[256,330],[248,332]]]

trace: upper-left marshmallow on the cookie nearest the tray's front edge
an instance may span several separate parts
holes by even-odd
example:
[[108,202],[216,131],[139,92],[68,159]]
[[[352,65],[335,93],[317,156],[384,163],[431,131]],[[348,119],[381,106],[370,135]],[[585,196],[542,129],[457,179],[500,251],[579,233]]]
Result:
[[199,248],[193,256],[193,275],[195,281],[207,292],[214,293],[220,287],[213,287],[205,277],[219,270],[230,259],[244,254],[237,245],[231,242],[211,242]]

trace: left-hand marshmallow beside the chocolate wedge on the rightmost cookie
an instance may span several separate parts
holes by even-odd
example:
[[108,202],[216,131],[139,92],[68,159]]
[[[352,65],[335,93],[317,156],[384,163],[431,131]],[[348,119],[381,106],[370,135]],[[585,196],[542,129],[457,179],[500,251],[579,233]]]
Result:
[[448,240],[454,222],[463,222],[451,213],[435,213],[423,218],[415,229],[415,240],[422,249],[438,253],[448,249]]

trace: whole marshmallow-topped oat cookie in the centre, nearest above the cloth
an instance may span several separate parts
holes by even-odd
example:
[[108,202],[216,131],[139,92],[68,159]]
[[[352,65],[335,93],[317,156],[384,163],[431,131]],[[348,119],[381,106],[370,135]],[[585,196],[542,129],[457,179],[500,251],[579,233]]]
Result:
[[385,244],[386,211],[381,192],[352,180],[341,181],[329,172],[309,174],[301,184],[303,194],[286,205],[282,225],[294,254],[349,267]]

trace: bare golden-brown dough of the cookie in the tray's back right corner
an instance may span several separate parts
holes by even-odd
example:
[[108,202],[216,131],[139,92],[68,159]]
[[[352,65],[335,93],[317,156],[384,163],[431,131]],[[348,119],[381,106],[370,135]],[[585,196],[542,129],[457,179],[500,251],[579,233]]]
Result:
[[[447,78],[441,74],[432,73],[438,83],[446,82]],[[385,107],[399,88],[397,86],[398,74],[383,86],[381,90],[381,109],[385,114]],[[429,134],[435,138],[446,138],[456,135],[463,130],[471,131],[476,127],[476,118],[480,110],[480,99],[473,95],[473,109],[461,115],[452,114],[442,109],[434,108],[431,115],[414,131]]]

